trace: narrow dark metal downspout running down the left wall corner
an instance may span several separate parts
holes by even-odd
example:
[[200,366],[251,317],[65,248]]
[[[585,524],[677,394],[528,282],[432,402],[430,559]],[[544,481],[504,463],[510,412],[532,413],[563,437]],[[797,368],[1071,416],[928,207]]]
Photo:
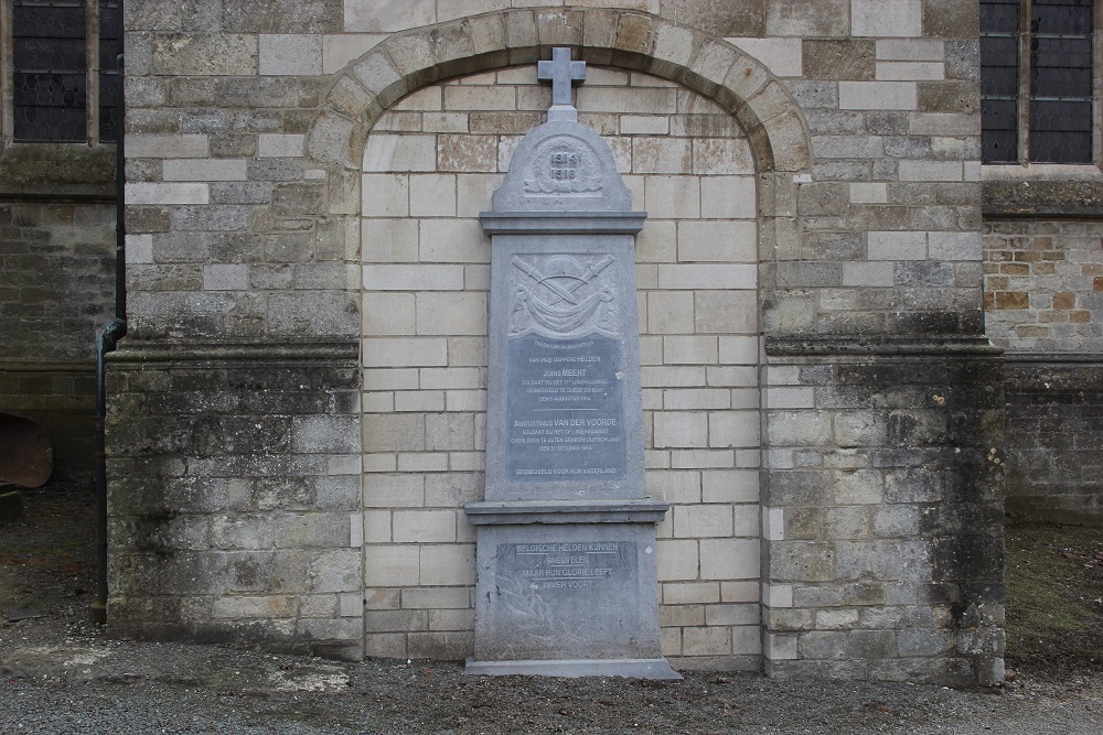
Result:
[[[121,24],[122,3],[119,3]],[[122,37],[119,29],[119,39]],[[127,225],[126,225],[126,105],[122,94],[124,58],[119,73],[115,173],[115,318],[96,332],[96,599],[88,608],[93,623],[107,623],[107,353],[115,352],[127,334]]]

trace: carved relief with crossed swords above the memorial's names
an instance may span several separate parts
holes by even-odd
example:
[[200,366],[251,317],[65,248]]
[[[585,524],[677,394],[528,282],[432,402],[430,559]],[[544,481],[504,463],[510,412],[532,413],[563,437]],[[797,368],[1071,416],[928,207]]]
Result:
[[617,260],[611,255],[514,256],[510,336],[619,335]]

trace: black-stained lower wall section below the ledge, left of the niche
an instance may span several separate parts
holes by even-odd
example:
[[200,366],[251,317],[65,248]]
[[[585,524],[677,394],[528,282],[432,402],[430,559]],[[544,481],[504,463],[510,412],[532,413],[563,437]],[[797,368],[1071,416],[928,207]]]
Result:
[[356,349],[109,356],[113,635],[362,656]]

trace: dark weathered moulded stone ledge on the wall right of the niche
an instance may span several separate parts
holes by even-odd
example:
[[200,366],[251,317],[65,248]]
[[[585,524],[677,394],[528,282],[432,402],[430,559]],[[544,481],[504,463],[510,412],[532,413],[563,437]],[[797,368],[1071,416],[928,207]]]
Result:
[[767,337],[769,357],[869,355],[876,357],[997,357],[1003,349],[983,335],[875,335]]

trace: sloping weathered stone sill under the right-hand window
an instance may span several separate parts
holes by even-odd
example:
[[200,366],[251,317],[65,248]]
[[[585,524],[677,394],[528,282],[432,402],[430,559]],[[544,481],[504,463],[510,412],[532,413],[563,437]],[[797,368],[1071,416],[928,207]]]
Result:
[[1103,171],[1095,165],[981,167],[986,218],[1103,218]]

